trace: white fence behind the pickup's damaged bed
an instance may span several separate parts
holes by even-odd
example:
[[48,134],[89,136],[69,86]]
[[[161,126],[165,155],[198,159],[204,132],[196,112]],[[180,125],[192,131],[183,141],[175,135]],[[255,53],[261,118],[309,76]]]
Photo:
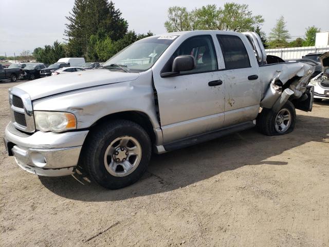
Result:
[[305,47],[293,47],[293,48],[276,48],[276,49],[266,49],[266,55],[273,55],[282,58],[283,60],[287,59],[298,59],[302,58],[309,53],[322,53],[329,51],[329,45],[323,47],[315,46],[305,46]]

